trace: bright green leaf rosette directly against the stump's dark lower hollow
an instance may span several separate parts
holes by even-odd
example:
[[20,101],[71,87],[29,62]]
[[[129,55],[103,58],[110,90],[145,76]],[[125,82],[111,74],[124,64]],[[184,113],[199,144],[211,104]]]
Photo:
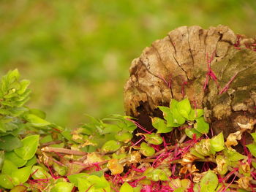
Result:
[[188,137],[192,138],[195,134],[197,137],[201,137],[202,134],[207,134],[209,131],[209,125],[203,118],[203,110],[193,110],[189,99],[182,101],[176,101],[172,99],[170,101],[170,107],[160,106],[159,109],[163,112],[165,120],[161,118],[152,118],[152,125],[157,128],[157,133],[168,133],[173,130],[174,127],[179,127],[185,122],[192,124],[192,128],[186,128],[185,132]]

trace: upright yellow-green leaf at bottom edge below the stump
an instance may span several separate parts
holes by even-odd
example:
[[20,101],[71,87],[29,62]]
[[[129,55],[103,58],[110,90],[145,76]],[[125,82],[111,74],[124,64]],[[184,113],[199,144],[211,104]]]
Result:
[[201,191],[204,192],[214,192],[218,184],[219,180],[217,175],[211,170],[208,170],[208,172],[202,177],[200,181],[200,188]]

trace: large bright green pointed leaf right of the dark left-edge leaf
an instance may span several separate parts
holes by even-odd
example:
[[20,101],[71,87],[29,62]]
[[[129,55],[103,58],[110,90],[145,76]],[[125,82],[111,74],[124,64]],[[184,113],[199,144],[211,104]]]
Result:
[[37,151],[39,135],[30,135],[22,139],[21,142],[23,143],[23,147],[15,149],[15,153],[24,160],[31,159]]

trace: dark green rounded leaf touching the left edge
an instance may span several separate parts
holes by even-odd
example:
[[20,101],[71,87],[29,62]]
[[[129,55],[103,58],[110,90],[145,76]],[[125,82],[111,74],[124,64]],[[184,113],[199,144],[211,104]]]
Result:
[[0,137],[0,149],[5,151],[11,151],[18,147],[22,147],[22,142],[17,137],[10,134],[4,137]]

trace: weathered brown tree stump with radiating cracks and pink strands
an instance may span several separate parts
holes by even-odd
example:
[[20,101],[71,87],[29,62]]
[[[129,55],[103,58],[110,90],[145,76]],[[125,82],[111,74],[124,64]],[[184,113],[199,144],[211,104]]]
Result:
[[[182,26],[146,47],[132,61],[124,86],[127,115],[151,129],[157,106],[187,97],[205,110],[215,134],[225,137],[256,114],[256,39],[227,26]],[[216,74],[217,79],[214,77]]]

